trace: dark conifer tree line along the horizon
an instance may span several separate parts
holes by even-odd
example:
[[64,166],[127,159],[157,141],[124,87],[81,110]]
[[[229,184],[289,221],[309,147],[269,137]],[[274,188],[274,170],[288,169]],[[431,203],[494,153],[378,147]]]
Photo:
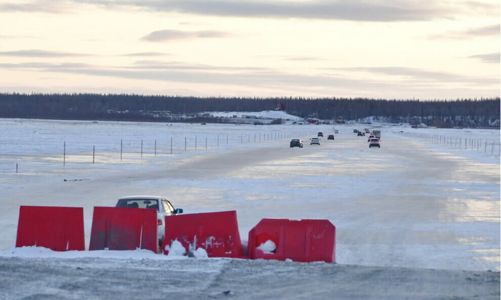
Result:
[[[176,118],[172,115],[193,115],[205,111],[262,111],[273,110],[277,106],[285,107],[288,114],[302,118],[349,121],[375,116],[389,122],[425,123],[441,127],[498,128],[500,115],[499,97],[424,101],[336,97],[240,98],[0,93],[0,118],[175,121]],[[170,111],[171,117],[144,114],[145,111]],[[184,118],[177,120],[185,121]]]

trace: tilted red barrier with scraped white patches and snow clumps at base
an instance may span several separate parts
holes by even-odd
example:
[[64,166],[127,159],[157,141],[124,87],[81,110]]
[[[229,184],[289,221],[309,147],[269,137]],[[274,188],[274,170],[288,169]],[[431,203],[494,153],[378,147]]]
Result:
[[242,257],[236,211],[193,213],[165,217],[162,251],[178,240],[188,251],[203,248],[208,257]]

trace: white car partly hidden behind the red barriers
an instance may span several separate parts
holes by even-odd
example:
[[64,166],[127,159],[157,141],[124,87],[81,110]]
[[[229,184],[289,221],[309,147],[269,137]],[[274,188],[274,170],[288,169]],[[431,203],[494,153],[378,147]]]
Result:
[[158,245],[162,244],[165,235],[165,216],[182,213],[183,209],[175,209],[169,200],[158,196],[129,196],[118,199],[115,207],[151,208],[156,209],[158,225]]

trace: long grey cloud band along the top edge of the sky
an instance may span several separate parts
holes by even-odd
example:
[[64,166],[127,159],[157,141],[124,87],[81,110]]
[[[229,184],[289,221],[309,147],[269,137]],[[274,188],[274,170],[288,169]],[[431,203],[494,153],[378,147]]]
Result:
[[[104,0],[80,0],[109,7]],[[317,0],[317,1],[264,1],[264,0],[116,0],[114,6],[130,6],[141,9],[209,16],[256,17],[256,18],[303,18],[352,21],[422,21],[452,19],[472,14],[493,15],[499,13],[496,4],[476,1],[444,2],[438,0]]]

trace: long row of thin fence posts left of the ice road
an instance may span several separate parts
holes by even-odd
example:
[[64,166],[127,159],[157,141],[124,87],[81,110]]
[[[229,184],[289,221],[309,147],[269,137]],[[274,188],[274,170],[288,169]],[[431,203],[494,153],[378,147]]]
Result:
[[[270,133],[263,134],[261,136],[261,133],[259,134],[254,134],[254,139],[251,138],[251,134],[247,134],[247,142],[251,142],[254,140],[254,142],[261,142],[261,141],[270,141],[270,140],[279,140],[281,138],[291,138],[291,137],[299,137],[299,136],[305,136],[307,135],[307,132],[275,132],[275,135]],[[219,134],[217,135],[217,146],[216,148],[219,148]],[[244,142],[244,134],[240,134],[240,143],[243,144]],[[226,135],[226,144],[229,143],[228,135]],[[154,142],[154,156],[156,156],[157,148],[157,143],[156,139]],[[173,153],[173,147],[172,147],[172,136],[170,140],[170,154]],[[205,137],[205,150],[208,149],[207,146],[207,137]],[[197,136],[195,135],[195,151],[197,150]],[[187,138],[184,138],[184,151],[187,151]],[[122,161],[123,158],[123,139],[120,139],[120,161]],[[141,158],[143,158],[143,140],[141,140]],[[94,164],[96,162],[96,145],[92,146],[92,163]],[[66,166],[66,141],[63,142],[63,166]],[[16,173],[18,172],[18,164],[16,163]]]

